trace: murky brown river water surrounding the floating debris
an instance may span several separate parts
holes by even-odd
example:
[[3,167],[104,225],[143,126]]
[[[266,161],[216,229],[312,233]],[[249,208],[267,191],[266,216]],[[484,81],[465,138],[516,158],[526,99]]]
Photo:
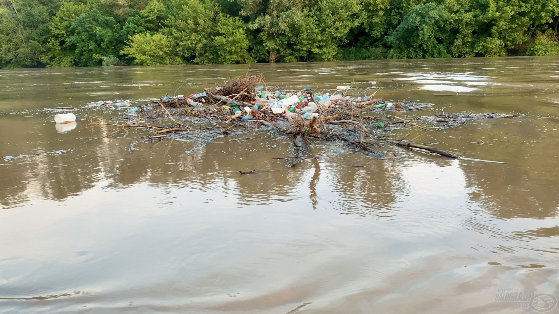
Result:
[[[294,168],[272,129],[131,146],[144,131],[86,125],[125,110],[96,101],[247,70],[434,103],[402,117],[520,116],[391,135],[501,163],[315,142]],[[557,57],[0,69],[0,312],[557,313],[558,117]],[[503,298],[519,292],[535,297]]]

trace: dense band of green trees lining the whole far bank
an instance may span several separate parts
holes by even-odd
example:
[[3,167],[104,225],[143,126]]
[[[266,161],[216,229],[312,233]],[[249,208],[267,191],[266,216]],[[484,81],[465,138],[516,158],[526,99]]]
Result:
[[556,55],[559,0],[0,0],[0,68]]

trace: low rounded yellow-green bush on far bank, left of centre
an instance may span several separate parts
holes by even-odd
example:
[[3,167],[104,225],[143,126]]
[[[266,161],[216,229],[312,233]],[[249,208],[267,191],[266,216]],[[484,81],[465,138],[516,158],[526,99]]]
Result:
[[181,64],[181,59],[174,55],[175,48],[176,44],[170,36],[146,32],[131,36],[121,53],[130,56],[138,65]]

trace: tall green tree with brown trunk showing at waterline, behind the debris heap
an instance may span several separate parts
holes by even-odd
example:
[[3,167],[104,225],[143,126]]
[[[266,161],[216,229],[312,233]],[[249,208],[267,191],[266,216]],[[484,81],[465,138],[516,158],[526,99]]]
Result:
[[239,0],[269,61],[333,60],[359,24],[358,0]]

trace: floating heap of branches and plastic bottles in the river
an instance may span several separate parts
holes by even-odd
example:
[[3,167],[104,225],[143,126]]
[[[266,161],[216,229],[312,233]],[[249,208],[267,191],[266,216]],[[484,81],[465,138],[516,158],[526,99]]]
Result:
[[389,131],[408,127],[432,131],[452,129],[484,118],[518,117],[497,113],[475,115],[443,112],[435,116],[402,118],[395,114],[424,110],[432,103],[390,102],[375,98],[376,92],[365,97],[353,97],[347,94],[348,90],[349,87],[338,87],[336,92],[330,94],[312,91],[309,87],[299,91],[273,89],[263,82],[262,74],[257,74],[234,78],[189,96],[165,96],[151,104],[132,107],[126,110],[127,115],[122,117],[121,124],[96,122],[88,125],[118,127],[108,137],[131,128],[149,130],[138,142],[179,139],[188,136],[191,131],[203,131],[209,139],[204,145],[209,144],[212,137],[272,127],[293,137],[294,155],[285,158],[287,164],[293,166],[304,158],[315,158],[307,151],[310,139],[343,141],[347,147],[381,159],[395,158],[392,153],[392,156],[387,157],[377,150],[383,148],[384,144],[459,158],[429,145],[405,138],[394,140],[387,135]]

